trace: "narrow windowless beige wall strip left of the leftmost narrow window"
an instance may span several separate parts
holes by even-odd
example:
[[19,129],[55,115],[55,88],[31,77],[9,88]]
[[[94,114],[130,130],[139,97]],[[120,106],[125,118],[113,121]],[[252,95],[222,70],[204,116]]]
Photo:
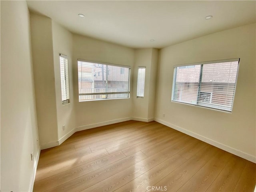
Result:
[[42,148],[58,145],[52,20],[30,14],[38,131]]

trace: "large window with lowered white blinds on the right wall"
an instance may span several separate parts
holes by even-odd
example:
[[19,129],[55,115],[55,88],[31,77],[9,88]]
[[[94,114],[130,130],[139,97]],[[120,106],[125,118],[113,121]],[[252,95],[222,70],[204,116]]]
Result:
[[172,101],[232,112],[238,59],[174,66]]

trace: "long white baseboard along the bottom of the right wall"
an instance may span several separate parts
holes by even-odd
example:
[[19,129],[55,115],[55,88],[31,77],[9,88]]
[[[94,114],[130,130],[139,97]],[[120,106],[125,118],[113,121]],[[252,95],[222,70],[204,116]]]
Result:
[[161,123],[161,124],[166,125],[166,126],[168,126],[168,127],[170,127],[170,128],[173,128],[173,129],[175,129],[175,130],[178,130],[178,131],[180,131],[180,132],[182,132],[182,133],[184,133],[184,134],[187,134],[187,135],[192,136],[192,137],[194,137],[194,138],[196,138],[196,139],[199,139],[199,140],[201,140],[201,141],[204,141],[204,142],[206,142],[206,143],[208,143],[208,144],[210,144],[210,145],[213,145],[213,146],[215,146],[215,147],[218,147],[218,148],[220,148],[220,149],[222,149],[222,150],[224,150],[224,151],[230,152],[230,153],[232,153],[232,154],[234,154],[234,155],[236,155],[236,156],[242,157],[242,158],[244,158],[244,159],[246,159],[246,160],[248,160],[248,161],[251,161],[251,162],[256,163],[256,157],[254,157],[254,156],[252,156],[252,155],[250,155],[250,154],[247,154],[247,153],[245,153],[245,152],[242,152],[242,151],[237,150],[237,149],[235,149],[235,148],[232,148],[232,147],[230,147],[230,146],[224,145],[224,144],[222,144],[222,143],[216,142],[216,141],[211,140],[211,139],[209,139],[209,138],[206,138],[206,137],[204,137],[204,136],[202,136],[202,135],[196,134],[196,133],[194,133],[194,132],[191,132],[191,131],[189,131],[189,130],[186,130],[186,129],[184,129],[184,128],[181,128],[181,127],[179,127],[179,126],[176,126],[176,125],[174,125],[174,124],[171,124],[171,123],[168,123],[168,122],[166,122],[166,121],[160,120],[160,119],[158,119],[158,118],[154,118],[154,120],[155,120],[156,122],[158,122],[158,123]]

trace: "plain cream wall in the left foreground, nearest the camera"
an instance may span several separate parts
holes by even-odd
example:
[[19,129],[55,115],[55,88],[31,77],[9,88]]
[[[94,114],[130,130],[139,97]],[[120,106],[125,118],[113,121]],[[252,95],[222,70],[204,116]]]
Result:
[[40,152],[37,139],[28,8],[25,1],[1,1],[2,191],[31,190]]

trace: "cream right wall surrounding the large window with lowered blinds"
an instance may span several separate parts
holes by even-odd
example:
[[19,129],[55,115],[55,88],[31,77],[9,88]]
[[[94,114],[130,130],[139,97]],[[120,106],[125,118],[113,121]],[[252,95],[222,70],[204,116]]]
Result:
[[[255,24],[163,48],[156,120],[255,162],[255,52]],[[232,114],[170,102],[174,65],[229,58],[240,58]]]

